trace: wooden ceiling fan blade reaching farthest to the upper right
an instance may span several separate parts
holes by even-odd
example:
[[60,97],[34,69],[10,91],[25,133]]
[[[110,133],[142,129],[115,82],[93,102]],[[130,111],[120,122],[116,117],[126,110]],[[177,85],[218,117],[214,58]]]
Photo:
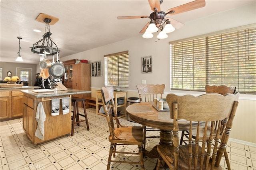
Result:
[[190,11],[190,10],[195,10],[195,9],[198,9],[198,8],[202,8],[204,6],[205,6],[205,0],[195,0],[195,1],[183,4],[183,5],[171,8],[166,13],[168,13],[170,11],[175,11],[173,14],[170,13],[168,15],[176,15],[176,14],[180,14],[182,12],[187,12],[187,11]]

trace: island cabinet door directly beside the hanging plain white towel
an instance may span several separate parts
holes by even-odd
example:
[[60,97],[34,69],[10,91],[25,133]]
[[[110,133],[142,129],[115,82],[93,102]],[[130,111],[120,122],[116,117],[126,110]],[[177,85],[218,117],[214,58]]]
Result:
[[34,143],[34,109],[27,107],[27,136]]

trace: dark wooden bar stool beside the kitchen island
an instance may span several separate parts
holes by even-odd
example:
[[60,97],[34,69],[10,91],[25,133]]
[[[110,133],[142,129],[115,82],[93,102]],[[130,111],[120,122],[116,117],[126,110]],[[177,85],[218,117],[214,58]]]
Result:
[[[79,124],[80,122],[86,122],[87,130],[89,130],[89,125],[88,125],[87,113],[86,113],[86,108],[85,108],[85,99],[72,96],[71,101],[73,102],[73,107],[74,107],[74,111],[72,111],[73,116],[72,116],[72,130],[71,130],[71,136],[73,136],[75,124],[77,126],[80,126],[80,124]],[[79,113],[77,102],[82,102],[83,108],[84,108],[84,115]],[[79,121],[79,115],[85,117],[85,120]]]

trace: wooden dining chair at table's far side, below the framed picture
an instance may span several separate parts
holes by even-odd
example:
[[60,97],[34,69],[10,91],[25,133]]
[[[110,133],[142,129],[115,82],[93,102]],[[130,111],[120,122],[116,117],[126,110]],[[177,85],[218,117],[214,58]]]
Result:
[[[137,85],[138,93],[140,96],[140,102],[153,102],[154,99],[162,99],[162,94],[164,94],[165,85],[153,85],[153,84],[142,84]],[[142,126],[144,129],[144,145],[146,148],[146,138],[159,138],[160,136],[146,136],[147,131],[159,131],[159,129]]]

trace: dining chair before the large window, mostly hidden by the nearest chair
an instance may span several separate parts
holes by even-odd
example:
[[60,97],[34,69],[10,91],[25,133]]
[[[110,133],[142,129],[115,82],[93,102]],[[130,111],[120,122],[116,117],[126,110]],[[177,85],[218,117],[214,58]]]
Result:
[[[205,92],[206,93],[218,93],[218,94],[221,94],[221,95],[225,95],[225,94],[234,94],[236,92],[236,87],[228,87],[228,86],[225,86],[225,85],[220,85],[220,86],[216,86],[216,85],[206,85],[205,86]],[[218,127],[218,121],[217,122],[213,122],[214,125],[215,125],[215,129],[214,129],[214,134],[216,135],[216,128]],[[223,133],[223,130],[224,130],[224,127],[226,126],[226,123],[227,123],[227,119],[224,119],[222,120],[221,122],[221,130],[220,130],[220,137]],[[208,125],[209,129],[210,129],[210,126],[211,125]],[[208,129],[208,133],[209,133],[209,129]],[[204,127],[202,127],[200,129],[200,131],[203,131],[204,130]],[[182,134],[181,134],[181,138],[180,138],[180,144],[184,143],[184,144],[187,144],[188,142],[188,137],[189,136],[189,132],[186,131],[186,130],[183,130],[182,131]],[[192,130],[192,138],[195,139],[196,138],[196,131],[195,130]],[[202,136],[200,137],[200,139],[202,138]],[[228,159],[228,153],[227,151],[225,150],[224,152],[224,156],[225,156],[225,160],[226,160],[226,164],[227,164],[227,167],[228,167],[228,170],[230,170],[230,162],[229,162],[229,159]]]

